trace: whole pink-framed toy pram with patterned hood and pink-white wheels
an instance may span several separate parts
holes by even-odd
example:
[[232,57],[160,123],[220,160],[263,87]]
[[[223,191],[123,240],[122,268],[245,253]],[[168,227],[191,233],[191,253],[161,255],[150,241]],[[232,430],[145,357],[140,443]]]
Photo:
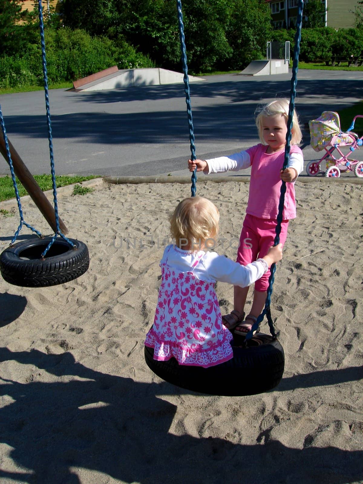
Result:
[[[356,177],[363,178],[363,162],[349,158],[363,144],[363,136],[360,138],[351,131],[357,118],[363,116],[355,116],[347,132],[342,132],[339,115],[334,111],[323,111],[319,118],[309,121],[311,146],[315,151],[325,151],[319,161],[307,164],[306,172],[309,176],[314,177],[321,173],[320,164],[326,162],[326,170],[322,172],[326,177],[337,178],[341,172],[349,170],[354,171]],[[348,154],[341,151],[340,148],[344,146],[349,147]],[[333,155],[335,150],[339,153],[338,158]]]

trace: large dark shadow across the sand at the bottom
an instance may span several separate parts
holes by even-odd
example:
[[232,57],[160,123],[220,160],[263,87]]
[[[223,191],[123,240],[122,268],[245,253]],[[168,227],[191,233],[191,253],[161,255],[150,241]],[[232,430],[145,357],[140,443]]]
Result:
[[[103,374],[76,363],[71,353],[1,348],[0,362],[9,360],[33,365],[37,381],[29,378],[24,384],[2,378],[0,394],[8,395],[11,403],[0,409],[0,441],[10,447],[15,465],[28,470],[13,472],[3,465],[1,482],[79,484],[73,468],[141,484],[363,480],[363,451],[318,448],[313,442],[291,449],[267,435],[261,439],[264,444],[255,445],[172,435],[168,430],[177,408],[157,396],[189,392],[166,382],[137,383]],[[324,372],[319,373],[316,382],[299,376],[297,386],[324,384]],[[42,381],[47,374],[74,378],[49,383]],[[336,379],[329,376],[330,384],[358,376],[355,370],[343,370],[342,378],[339,370],[334,375]],[[282,383],[281,390],[291,388],[292,381],[288,379],[287,388]]]

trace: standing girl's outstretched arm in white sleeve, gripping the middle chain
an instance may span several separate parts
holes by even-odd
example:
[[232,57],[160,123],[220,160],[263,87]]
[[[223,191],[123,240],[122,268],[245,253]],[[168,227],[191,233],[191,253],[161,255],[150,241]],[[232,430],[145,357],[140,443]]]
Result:
[[220,173],[223,171],[238,171],[251,166],[251,158],[247,151],[231,154],[230,156],[220,156],[210,160],[188,160],[189,171],[203,171],[204,174]]

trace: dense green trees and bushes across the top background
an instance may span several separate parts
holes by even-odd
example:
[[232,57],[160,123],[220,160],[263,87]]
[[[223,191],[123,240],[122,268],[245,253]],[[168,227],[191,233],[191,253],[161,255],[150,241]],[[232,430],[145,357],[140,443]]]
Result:
[[[272,30],[265,0],[182,2],[191,74],[240,70],[251,60],[265,57],[269,40],[294,44],[294,30]],[[0,0],[1,87],[42,83],[37,3],[34,0],[32,12],[22,12],[23,0]],[[300,59],[359,55],[361,10],[356,15],[359,29],[306,28],[318,25],[324,12],[320,0],[306,4],[308,24],[302,29]],[[61,16],[45,8],[44,19],[50,85],[115,64],[181,71],[175,0],[62,0]]]

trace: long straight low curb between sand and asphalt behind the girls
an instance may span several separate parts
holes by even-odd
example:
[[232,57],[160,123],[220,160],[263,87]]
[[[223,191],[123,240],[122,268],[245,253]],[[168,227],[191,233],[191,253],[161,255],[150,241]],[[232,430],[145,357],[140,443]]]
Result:
[[[120,184],[138,184],[138,183],[191,183],[191,177],[189,176],[147,176],[147,177],[104,177],[103,181],[105,183],[112,183],[116,185]],[[213,183],[224,183],[226,181],[238,181],[242,183],[249,183],[250,177],[245,176],[226,176],[226,175],[199,175],[197,178],[198,182],[206,182],[211,181]],[[296,181],[297,183],[354,183],[357,185],[363,184],[363,178],[357,177],[346,177],[346,178],[325,178],[325,177],[309,177],[309,176],[302,176],[299,177]]]

